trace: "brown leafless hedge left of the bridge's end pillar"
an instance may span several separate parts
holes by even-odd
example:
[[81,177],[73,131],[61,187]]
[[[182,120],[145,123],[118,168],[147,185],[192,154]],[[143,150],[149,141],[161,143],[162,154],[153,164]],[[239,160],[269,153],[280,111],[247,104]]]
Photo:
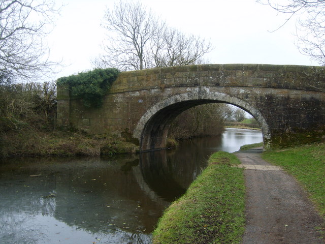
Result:
[[54,82],[0,86],[0,132],[24,128],[54,128],[56,86]]

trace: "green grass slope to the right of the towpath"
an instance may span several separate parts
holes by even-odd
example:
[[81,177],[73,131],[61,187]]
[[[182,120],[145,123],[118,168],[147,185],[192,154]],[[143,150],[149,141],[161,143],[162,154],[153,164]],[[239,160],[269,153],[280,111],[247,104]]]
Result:
[[282,166],[301,182],[325,218],[325,144],[266,151],[263,159]]

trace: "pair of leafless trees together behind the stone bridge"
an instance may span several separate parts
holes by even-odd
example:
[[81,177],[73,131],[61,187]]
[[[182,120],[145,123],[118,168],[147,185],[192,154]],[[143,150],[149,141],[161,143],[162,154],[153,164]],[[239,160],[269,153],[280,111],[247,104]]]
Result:
[[142,70],[196,64],[212,50],[210,42],[173,29],[140,2],[120,1],[107,9],[104,29],[108,39],[95,67]]

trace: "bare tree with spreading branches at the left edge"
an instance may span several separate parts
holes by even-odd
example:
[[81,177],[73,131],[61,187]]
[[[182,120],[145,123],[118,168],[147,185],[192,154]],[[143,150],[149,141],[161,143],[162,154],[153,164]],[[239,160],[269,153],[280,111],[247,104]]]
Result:
[[58,10],[42,0],[0,1],[0,84],[51,71],[42,38]]

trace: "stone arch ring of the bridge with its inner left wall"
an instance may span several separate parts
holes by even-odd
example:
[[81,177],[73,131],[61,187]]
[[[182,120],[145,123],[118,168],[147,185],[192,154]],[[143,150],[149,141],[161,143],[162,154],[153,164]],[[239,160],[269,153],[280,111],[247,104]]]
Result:
[[233,104],[249,112],[261,126],[263,139],[270,138],[265,118],[249,103],[227,94],[212,92],[210,87],[188,87],[187,93],[156,103],[140,118],[134,131],[134,137],[140,139],[140,150],[164,148],[169,127],[178,114],[197,105],[216,102]]

